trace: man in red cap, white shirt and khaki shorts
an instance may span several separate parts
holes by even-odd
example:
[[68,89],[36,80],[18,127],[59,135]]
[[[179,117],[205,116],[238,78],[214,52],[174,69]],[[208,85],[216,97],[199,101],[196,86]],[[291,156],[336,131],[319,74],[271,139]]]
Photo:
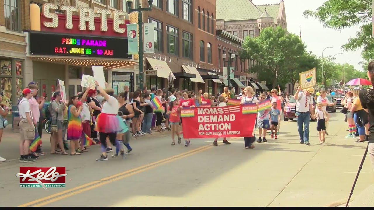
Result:
[[22,91],[23,98],[18,104],[19,117],[19,133],[21,135],[21,142],[19,143],[19,151],[21,157],[19,162],[33,162],[36,159],[29,155],[29,146],[31,141],[35,138],[35,126],[33,123],[33,115],[30,110],[28,100],[33,97],[31,89],[25,88]]

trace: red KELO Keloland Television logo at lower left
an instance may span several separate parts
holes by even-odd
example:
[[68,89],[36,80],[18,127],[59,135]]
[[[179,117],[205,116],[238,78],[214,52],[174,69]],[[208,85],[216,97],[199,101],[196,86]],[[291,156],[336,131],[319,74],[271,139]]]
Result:
[[65,167],[19,167],[19,187],[65,187]]

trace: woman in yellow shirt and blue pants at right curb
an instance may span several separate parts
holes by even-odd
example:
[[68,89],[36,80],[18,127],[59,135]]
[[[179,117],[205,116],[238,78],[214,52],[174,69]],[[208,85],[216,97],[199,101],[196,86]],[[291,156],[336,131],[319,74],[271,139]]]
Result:
[[369,138],[369,115],[368,112],[366,112],[364,108],[362,108],[359,93],[360,90],[353,90],[353,96],[355,98],[353,100],[352,107],[350,108],[350,112],[353,112],[353,120],[355,121],[357,131],[360,136],[360,139],[356,140],[356,142],[364,142],[365,138]]

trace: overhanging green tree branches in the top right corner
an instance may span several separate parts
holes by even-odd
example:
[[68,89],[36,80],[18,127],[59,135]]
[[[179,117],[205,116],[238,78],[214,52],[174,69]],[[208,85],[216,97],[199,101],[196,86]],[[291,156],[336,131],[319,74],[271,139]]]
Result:
[[328,0],[316,11],[306,10],[306,18],[317,18],[324,27],[341,31],[344,28],[361,25],[355,38],[341,46],[343,50],[354,51],[363,48],[366,60],[374,56],[374,39],[371,38],[372,0]]

